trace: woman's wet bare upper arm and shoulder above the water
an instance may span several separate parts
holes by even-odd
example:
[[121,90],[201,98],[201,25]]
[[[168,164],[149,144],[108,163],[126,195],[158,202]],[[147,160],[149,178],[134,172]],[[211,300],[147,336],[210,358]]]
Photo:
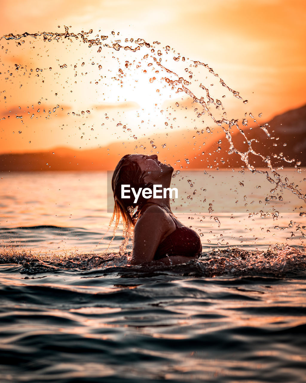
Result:
[[158,245],[167,234],[173,220],[158,205],[149,206],[138,218],[134,228],[132,265],[139,265],[153,260]]

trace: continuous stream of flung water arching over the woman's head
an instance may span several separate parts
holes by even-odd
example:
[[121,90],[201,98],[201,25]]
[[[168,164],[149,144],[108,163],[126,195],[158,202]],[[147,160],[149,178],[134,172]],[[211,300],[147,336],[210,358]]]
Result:
[[[208,108],[209,104],[213,104],[217,108],[219,108],[221,106],[222,110],[224,110],[224,108],[223,108],[223,105],[222,105],[220,100],[218,100],[218,99],[214,100],[210,96],[210,92],[209,92],[209,89],[207,87],[205,87],[204,85],[202,85],[202,83],[200,83],[199,87],[202,88],[202,90],[205,90],[206,94],[204,97],[203,96],[197,97],[195,95],[195,93],[193,93],[188,88],[188,86],[190,84],[190,80],[184,79],[184,77],[178,75],[176,72],[174,72],[171,69],[168,69],[166,66],[164,66],[162,64],[161,49],[158,49],[158,51],[155,52],[156,45],[158,46],[158,45],[160,45],[160,43],[154,42],[153,44],[150,44],[141,38],[138,38],[135,40],[133,40],[131,38],[131,39],[125,39],[125,42],[133,43],[135,45],[134,47],[129,46],[129,45],[124,46],[124,45],[119,44],[119,41],[121,41],[121,40],[116,40],[115,42],[111,42],[111,44],[107,44],[105,42],[105,40],[107,40],[109,38],[109,36],[101,35],[101,36],[93,38],[93,39],[89,38],[90,34],[93,33],[93,29],[90,29],[90,31],[88,31],[88,32],[81,31],[81,33],[75,34],[75,33],[69,32],[69,29],[67,26],[65,26],[64,28],[65,28],[65,32],[63,32],[63,33],[54,33],[54,32],[27,33],[27,32],[25,32],[23,34],[16,34],[16,35],[10,33],[10,34],[6,34],[6,35],[2,36],[0,38],[0,41],[2,39],[20,40],[22,38],[29,38],[29,37],[32,37],[34,39],[37,39],[38,37],[42,37],[43,41],[50,42],[50,41],[55,40],[55,41],[59,42],[60,39],[67,39],[68,38],[70,40],[70,42],[73,41],[72,39],[74,39],[74,40],[81,39],[81,41],[84,44],[88,44],[89,48],[92,46],[99,46],[101,48],[101,46],[103,46],[103,47],[114,49],[115,51],[119,51],[120,49],[124,49],[125,51],[131,51],[131,52],[137,52],[140,50],[141,47],[147,48],[147,49],[151,48],[152,54],[150,55],[150,57],[148,54],[146,54],[143,57],[143,59],[148,59],[148,60],[150,58],[153,59],[155,64],[158,65],[164,72],[166,72],[166,74],[174,75],[176,77],[176,79],[170,79],[169,77],[163,77],[162,80],[164,80],[164,82],[166,82],[169,86],[171,86],[172,90],[174,90],[176,93],[179,93],[179,92],[186,93],[186,95],[188,95],[189,97],[191,97],[193,99],[194,103],[199,103],[203,109],[202,113],[207,113],[212,118],[213,122],[217,126],[220,126],[222,128],[222,130],[225,134],[225,137],[229,142],[229,150],[228,150],[229,155],[231,155],[233,153],[239,155],[239,157],[241,158],[242,162],[246,165],[248,170],[250,170],[251,172],[259,172],[259,173],[264,174],[266,176],[267,180],[274,184],[274,188],[273,188],[272,192],[275,192],[278,188],[280,188],[280,189],[286,188],[286,189],[290,190],[292,193],[294,193],[296,196],[298,196],[298,198],[301,198],[302,200],[304,200],[306,202],[306,197],[302,193],[300,193],[298,190],[296,190],[296,188],[294,188],[292,185],[288,184],[286,181],[283,182],[283,180],[281,179],[281,176],[279,175],[279,173],[277,173],[276,169],[273,167],[273,165],[271,163],[271,158],[269,156],[264,156],[264,155],[260,154],[260,152],[254,151],[254,149],[252,148],[252,141],[254,141],[254,139],[253,140],[247,139],[247,136],[244,133],[243,129],[239,128],[238,119],[232,118],[231,120],[229,120],[229,119],[224,118],[223,116],[221,117],[221,119],[216,119],[215,116],[213,116],[212,112]],[[166,46],[165,51],[168,53],[170,51],[170,47]],[[157,57],[156,57],[156,55],[157,55]],[[178,57],[177,61],[179,61],[179,59],[180,59],[180,56]],[[184,58],[184,61],[185,61],[185,58]],[[208,66],[208,64],[204,64],[203,62],[196,61],[196,60],[192,60],[192,62],[194,63],[195,67],[203,66],[206,69],[208,69],[209,73],[213,74],[213,76],[215,76],[219,79],[219,82],[223,87],[225,87],[229,92],[231,92],[234,95],[234,97],[243,101],[243,98],[239,95],[239,92],[231,89],[225,83],[225,81],[223,79],[221,79],[219,77],[219,75],[216,74],[211,67]],[[94,63],[92,63],[92,64],[94,64]],[[128,64],[126,63],[126,65],[128,65]],[[151,62],[149,62],[148,65],[151,65]],[[67,64],[60,65],[60,68],[62,68],[62,69],[66,68],[66,67],[67,67]],[[99,69],[100,69],[100,67],[99,67]],[[38,70],[42,70],[42,69],[38,69]],[[122,72],[122,70],[121,70],[121,72]],[[122,74],[123,74],[123,72],[122,72]],[[153,80],[153,78],[151,80]],[[206,98],[206,101],[205,101],[205,98]],[[243,102],[247,103],[247,100],[244,100]],[[199,114],[202,114],[202,113],[197,112],[197,115],[199,116]],[[251,118],[254,119],[254,117],[252,116],[252,113],[249,113],[249,115],[251,116]],[[247,120],[243,119],[242,124],[244,126],[246,126]],[[267,127],[269,127],[268,124],[263,124],[263,125],[260,125],[259,127],[260,127],[260,129],[262,129],[265,132],[265,134],[268,137],[270,137],[270,133],[267,130]],[[231,133],[231,129],[234,129],[234,128],[238,129],[239,133],[242,134],[243,138],[245,139],[245,141],[248,145],[247,151],[244,151],[244,152],[239,151],[237,149],[237,147],[235,147],[234,142],[233,142],[232,133]],[[207,127],[206,131],[207,131],[207,133],[210,133],[210,128]],[[153,148],[154,148],[154,146],[153,146]],[[267,166],[269,168],[269,170],[272,172],[272,175],[274,178],[270,177],[270,175],[267,171],[255,169],[255,167],[253,165],[251,165],[251,163],[249,161],[249,155],[250,154],[260,157],[262,159],[262,161],[264,162],[264,165]],[[291,160],[285,159],[285,157],[283,157],[282,160],[284,160],[287,163],[291,161]],[[188,164],[189,160],[187,159],[186,162]]]

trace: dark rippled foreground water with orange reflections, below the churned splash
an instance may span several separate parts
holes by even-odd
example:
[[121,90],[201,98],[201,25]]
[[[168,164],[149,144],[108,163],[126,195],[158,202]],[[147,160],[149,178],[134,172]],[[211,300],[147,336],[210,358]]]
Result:
[[4,382],[304,380],[303,279],[20,268],[0,266]]

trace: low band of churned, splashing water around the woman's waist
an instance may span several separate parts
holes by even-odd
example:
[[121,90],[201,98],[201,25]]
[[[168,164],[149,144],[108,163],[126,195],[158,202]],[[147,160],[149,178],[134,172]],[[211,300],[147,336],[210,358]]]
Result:
[[[128,266],[130,254],[117,253],[65,254],[42,256],[7,248],[1,251],[0,264],[20,264],[20,273],[35,275],[76,270],[103,269],[104,275],[116,273],[120,277],[148,277],[158,274],[192,277],[280,277],[302,276],[306,272],[306,250],[289,245],[270,246],[264,251],[237,248],[204,252],[199,260],[182,265],[165,266],[159,261],[151,265]],[[171,260],[170,260],[171,263]]]

